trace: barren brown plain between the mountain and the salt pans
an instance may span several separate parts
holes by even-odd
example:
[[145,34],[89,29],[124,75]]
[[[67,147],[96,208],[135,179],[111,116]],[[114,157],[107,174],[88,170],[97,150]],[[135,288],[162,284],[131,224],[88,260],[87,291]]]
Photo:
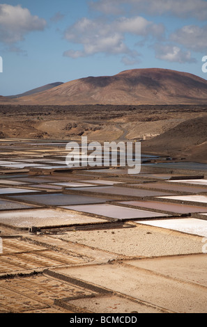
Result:
[[[0,106],[1,138],[143,141],[146,152],[206,162],[205,105]],[[153,139],[153,141],[152,141]],[[147,142],[147,140],[150,140]]]

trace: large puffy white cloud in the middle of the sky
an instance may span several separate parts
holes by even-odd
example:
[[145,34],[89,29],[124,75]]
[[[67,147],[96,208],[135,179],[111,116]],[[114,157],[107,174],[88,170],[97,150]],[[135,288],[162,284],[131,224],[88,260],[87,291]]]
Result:
[[[64,37],[69,42],[82,45],[82,51],[70,49],[64,52],[64,56],[78,58],[82,56],[90,56],[97,53],[105,54],[127,54],[130,60],[123,59],[125,63],[128,61],[137,61],[135,56],[139,56],[137,51],[132,51],[125,44],[125,34],[139,35],[146,37],[160,37],[164,31],[164,27],[160,24],[153,24],[143,17],[120,17],[112,22],[106,22],[100,19],[88,19],[86,17],[68,27]],[[138,62],[138,61],[137,61]]]

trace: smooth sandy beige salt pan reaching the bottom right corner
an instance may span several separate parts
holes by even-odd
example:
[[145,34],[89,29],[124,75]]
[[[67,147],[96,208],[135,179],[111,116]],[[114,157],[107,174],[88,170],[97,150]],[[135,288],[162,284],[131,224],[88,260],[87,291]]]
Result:
[[[178,262],[177,262],[178,264]],[[139,264],[138,264],[139,266]],[[70,274],[75,278],[93,282],[102,287],[112,287],[116,292],[125,294],[132,298],[139,298],[148,304],[155,303],[154,308],[164,310],[168,308],[171,312],[206,312],[206,290],[197,283],[178,282],[176,278],[169,278],[166,273],[156,273],[152,268],[137,269],[134,263],[91,265],[87,267],[73,267],[71,269],[59,269],[63,274]],[[183,276],[187,274],[186,266]],[[190,271],[190,275],[192,271]],[[199,280],[201,277],[197,275]],[[185,279],[185,277],[184,277]],[[181,280],[181,279],[180,279]],[[162,293],[162,296],[160,294]],[[179,294],[179,295],[178,295]],[[199,302],[194,303],[194,296],[199,296]],[[179,301],[178,301],[179,298]],[[182,304],[181,304],[182,303]],[[181,310],[182,305],[182,310]],[[165,309],[165,312],[167,310]]]

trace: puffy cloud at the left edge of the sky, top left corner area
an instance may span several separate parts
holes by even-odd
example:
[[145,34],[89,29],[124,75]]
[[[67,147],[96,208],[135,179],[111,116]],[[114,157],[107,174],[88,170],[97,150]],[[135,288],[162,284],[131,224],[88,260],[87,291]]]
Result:
[[0,42],[15,43],[24,40],[31,31],[43,31],[45,19],[31,15],[27,8],[0,4]]

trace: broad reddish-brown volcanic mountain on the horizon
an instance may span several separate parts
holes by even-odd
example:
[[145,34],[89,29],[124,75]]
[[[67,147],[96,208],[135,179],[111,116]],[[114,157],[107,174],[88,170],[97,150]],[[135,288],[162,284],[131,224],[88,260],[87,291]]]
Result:
[[[12,99],[13,104],[206,104],[207,81],[193,74],[148,68],[114,76],[86,77],[38,94]],[[0,100],[3,103],[3,99]]]

